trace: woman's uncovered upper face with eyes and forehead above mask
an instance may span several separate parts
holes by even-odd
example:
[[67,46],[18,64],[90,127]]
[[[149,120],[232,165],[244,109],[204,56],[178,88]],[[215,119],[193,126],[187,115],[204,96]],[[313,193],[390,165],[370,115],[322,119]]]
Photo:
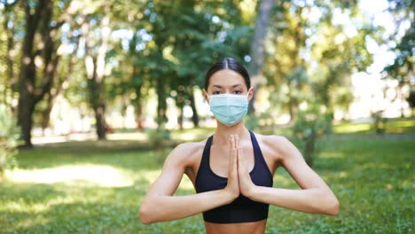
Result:
[[[209,95],[225,93],[247,95],[247,92],[247,84],[242,75],[230,69],[223,69],[212,74],[208,82],[207,90],[203,90],[207,102],[207,96]],[[252,98],[252,94],[253,89],[249,90],[248,100]]]

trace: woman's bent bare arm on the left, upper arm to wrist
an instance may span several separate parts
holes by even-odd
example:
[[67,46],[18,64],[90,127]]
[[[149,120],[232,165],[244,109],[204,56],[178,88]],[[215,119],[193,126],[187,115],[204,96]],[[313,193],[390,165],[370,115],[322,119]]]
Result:
[[[231,203],[239,195],[239,189],[236,192],[231,188],[229,183],[223,190],[207,191],[187,196],[173,196],[177,189],[186,167],[185,158],[189,155],[188,144],[181,144],[170,153],[165,161],[161,175],[152,184],[140,207],[140,218],[143,223],[162,222],[185,218],[193,214],[199,214],[209,209],[220,207]],[[234,157],[230,160],[236,160],[236,151]],[[229,174],[238,179],[236,167],[231,167]]]

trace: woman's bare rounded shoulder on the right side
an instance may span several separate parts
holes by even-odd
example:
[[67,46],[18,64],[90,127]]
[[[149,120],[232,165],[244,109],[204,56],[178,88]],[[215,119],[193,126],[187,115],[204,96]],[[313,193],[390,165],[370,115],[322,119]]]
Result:
[[261,148],[270,152],[270,155],[276,160],[284,160],[289,155],[293,155],[292,152],[298,152],[295,145],[286,136],[280,135],[261,135],[256,134],[258,144]]

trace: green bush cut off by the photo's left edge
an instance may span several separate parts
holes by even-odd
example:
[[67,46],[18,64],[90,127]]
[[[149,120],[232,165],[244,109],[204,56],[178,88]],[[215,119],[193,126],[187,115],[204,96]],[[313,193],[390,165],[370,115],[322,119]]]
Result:
[[0,105],[0,178],[3,177],[5,170],[17,166],[14,156],[17,153],[19,138],[20,128],[10,108]]

